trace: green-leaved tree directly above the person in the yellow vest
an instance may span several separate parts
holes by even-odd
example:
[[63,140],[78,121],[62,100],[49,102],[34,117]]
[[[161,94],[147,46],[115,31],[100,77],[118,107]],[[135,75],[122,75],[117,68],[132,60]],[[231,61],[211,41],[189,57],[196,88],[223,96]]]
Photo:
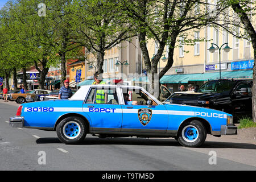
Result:
[[117,6],[117,1],[75,0],[72,3],[74,42],[96,52],[97,73],[103,73],[104,55],[123,40],[129,40],[133,24]]

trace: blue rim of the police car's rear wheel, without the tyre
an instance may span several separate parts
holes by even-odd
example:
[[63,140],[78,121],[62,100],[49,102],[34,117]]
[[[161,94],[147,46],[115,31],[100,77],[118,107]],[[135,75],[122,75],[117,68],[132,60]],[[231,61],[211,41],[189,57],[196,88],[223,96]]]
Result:
[[80,134],[80,126],[76,122],[68,122],[63,128],[63,133],[65,137],[72,139],[78,137]]

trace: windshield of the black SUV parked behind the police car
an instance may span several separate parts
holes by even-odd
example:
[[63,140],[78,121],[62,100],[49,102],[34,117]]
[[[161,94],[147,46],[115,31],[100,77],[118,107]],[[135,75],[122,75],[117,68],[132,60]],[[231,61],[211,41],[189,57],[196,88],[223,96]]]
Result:
[[230,92],[233,88],[234,81],[210,81],[202,85],[196,92],[214,92],[214,93],[223,93]]

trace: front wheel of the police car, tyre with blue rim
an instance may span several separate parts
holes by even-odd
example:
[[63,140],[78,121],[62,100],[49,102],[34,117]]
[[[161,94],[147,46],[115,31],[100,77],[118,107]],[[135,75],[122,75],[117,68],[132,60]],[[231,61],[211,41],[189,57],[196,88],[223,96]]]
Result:
[[194,120],[181,127],[177,140],[184,147],[199,147],[204,143],[206,137],[207,132],[203,123]]

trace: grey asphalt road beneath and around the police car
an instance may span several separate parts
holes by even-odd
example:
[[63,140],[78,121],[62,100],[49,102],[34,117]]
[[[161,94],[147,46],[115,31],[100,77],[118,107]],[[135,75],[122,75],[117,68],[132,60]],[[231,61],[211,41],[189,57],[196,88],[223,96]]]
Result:
[[256,170],[255,140],[208,135],[202,147],[185,148],[172,138],[100,139],[88,134],[81,144],[68,145],[54,131],[10,127],[18,106],[0,100],[2,171]]

